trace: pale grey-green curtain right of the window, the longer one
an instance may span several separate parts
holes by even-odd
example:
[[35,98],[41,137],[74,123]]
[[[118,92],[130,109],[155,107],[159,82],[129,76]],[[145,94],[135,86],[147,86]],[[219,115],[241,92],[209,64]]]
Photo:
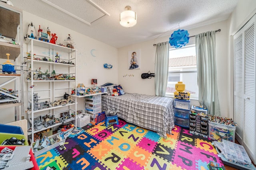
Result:
[[208,108],[208,114],[220,116],[215,43],[215,31],[196,35],[198,101]]

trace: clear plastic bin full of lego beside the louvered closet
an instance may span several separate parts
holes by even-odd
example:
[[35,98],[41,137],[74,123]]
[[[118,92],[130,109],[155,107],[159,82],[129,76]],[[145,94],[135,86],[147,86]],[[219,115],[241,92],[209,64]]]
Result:
[[210,139],[222,141],[222,139],[235,142],[236,127],[208,121],[208,136]]

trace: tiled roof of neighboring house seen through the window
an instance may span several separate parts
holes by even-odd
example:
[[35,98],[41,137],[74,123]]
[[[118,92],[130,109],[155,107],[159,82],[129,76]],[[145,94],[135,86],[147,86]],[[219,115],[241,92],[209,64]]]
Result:
[[169,67],[196,66],[196,56],[177,57],[169,59]]

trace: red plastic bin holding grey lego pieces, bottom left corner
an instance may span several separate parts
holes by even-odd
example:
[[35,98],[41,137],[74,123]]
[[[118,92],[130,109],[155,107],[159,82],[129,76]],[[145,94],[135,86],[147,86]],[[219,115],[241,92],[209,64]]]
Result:
[[[0,151],[3,150],[5,147],[8,148],[8,149],[12,149],[12,150],[15,150],[15,148],[16,148],[16,146],[0,146]],[[20,146],[19,146],[19,147],[20,147]],[[26,146],[26,147],[28,147],[28,146]],[[17,153],[17,152],[16,152],[16,153]],[[32,163],[33,163],[33,165],[34,165],[34,167],[33,167],[33,168],[30,168],[30,170],[39,170],[38,164],[36,163],[36,159],[35,159],[35,157],[34,157],[34,154],[33,154],[32,150],[31,150],[31,148],[30,148],[29,154],[30,154],[30,161],[32,161]],[[17,156],[17,155],[14,154],[14,157],[13,157],[13,158],[15,159],[16,156]],[[25,159],[25,157],[23,158],[23,156],[25,156],[25,155],[21,153],[21,155],[19,155],[18,158],[20,158],[21,160],[22,160],[22,159]],[[27,155],[26,155],[26,156],[27,156]],[[15,164],[18,164],[17,159],[16,159],[14,165],[15,165]],[[19,168],[17,168],[17,170],[20,169],[21,166],[22,166],[22,165],[19,165]]]

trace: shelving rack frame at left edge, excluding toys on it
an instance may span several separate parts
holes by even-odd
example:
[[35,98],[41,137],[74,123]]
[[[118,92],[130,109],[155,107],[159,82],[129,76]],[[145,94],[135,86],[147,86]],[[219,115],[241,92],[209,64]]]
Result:
[[[14,107],[15,121],[18,121],[24,119],[22,10],[0,2],[0,18],[2,22],[0,33],[6,39],[15,38],[18,43],[12,44],[11,41],[10,43],[0,41],[0,58],[7,59],[6,53],[9,53],[9,59],[14,61],[16,70],[16,74],[0,74],[0,95],[11,98],[9,100],[0,100],[0,109]],[[4,88],[12,88],[12,90],[18,91],[18,97],[8,93]]]

